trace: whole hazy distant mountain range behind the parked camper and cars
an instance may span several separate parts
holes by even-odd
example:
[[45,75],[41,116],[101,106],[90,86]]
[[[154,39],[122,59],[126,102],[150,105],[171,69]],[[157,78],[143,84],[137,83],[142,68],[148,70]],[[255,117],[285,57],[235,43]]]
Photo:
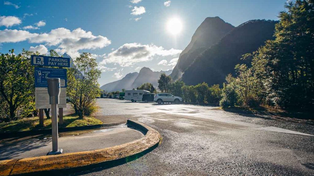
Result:
[[127,74],[121,80],[117,80],[111,83],[107,83],[100,87],[100,89],[111,92],[111,91],[121,91],[122,89],[131,90],[136,89],[138,86],[144,83],[152,83],[155,88],[158,88],[157,80],[160,77],[161,73],[165,73],[166,75],[170,75],[172,70],[168,71],[152,71],[147,67],[143,67],[139,73],[133,72]]

